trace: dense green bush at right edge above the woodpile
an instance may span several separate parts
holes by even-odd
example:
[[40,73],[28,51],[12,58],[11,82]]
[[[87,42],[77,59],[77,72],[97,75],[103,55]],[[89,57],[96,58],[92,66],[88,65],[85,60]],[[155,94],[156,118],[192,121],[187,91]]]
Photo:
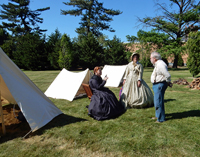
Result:
[[200,32],[191,32],[186,44],[188,52],[187,67],[194,76],[200,73]]

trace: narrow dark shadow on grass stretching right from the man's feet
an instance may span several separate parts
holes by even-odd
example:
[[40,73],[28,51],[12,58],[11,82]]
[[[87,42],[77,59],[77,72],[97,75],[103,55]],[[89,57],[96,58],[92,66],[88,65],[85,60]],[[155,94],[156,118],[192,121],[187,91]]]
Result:
[[170,114],[165,114],[165,116],[166,116],[166,120],[182,119],[182,118],[188,118],[188,117],[200,117],[200,110],[170,113]]

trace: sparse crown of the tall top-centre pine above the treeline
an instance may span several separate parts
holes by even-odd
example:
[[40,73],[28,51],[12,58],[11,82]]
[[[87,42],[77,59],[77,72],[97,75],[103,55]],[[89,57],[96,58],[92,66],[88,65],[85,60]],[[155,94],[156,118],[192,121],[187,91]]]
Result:
[[81,16],[80,27],[76,29],[79,34],[88,35],[92,32],[96,36],[102,35],[101,31],[109,30],[114,32],[108,22],[112,21],[112,16],[119,15],[119,10],[106,9],[103,3],[98,0],[70,0],[63,2],[65,5],[77,7],[72,10],[61,10],[63,15]]

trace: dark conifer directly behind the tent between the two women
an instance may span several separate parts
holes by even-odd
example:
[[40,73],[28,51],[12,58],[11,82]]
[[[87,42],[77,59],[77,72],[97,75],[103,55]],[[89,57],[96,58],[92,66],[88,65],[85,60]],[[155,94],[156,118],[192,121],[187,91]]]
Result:
[[125,52],[125,44],[116,36],[112,40],[106,41],[106,50],[104,55],[104,64],[124,65],[128,63],[127,54]]

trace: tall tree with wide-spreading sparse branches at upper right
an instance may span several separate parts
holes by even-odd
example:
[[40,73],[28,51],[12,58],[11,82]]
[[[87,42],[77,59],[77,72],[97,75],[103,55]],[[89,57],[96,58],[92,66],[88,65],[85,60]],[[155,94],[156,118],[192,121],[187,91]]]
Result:
[[[193,29],[200,29],[200,2],[194,0],[169,0],[171,9],[157,3],[163,15],[156,17],[138,18],[146,26],[156,28],[170,36],[170,44],[165,47],[168,54],[174,55],[173,67],[177,68],[178,54],[183,51],[183,38]],[[173,10],[173,7],[177,8]],[[193,27],[195,25],[195,27]]]

